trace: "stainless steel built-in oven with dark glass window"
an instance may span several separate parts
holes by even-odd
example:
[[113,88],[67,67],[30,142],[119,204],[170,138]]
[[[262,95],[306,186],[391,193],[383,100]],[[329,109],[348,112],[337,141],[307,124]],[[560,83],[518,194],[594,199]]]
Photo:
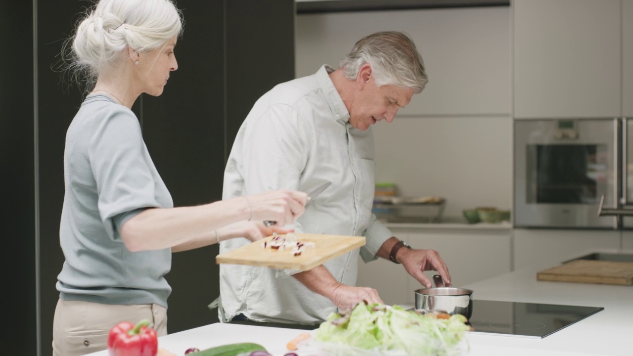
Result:
[[616,229],[618,120],[515,120],[517,227]]

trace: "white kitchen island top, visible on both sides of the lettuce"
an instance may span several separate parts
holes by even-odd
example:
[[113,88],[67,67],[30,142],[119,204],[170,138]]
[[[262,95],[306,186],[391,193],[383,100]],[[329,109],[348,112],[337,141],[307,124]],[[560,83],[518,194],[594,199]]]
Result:
[[[475,300],[582,305],[605,309],[542,339],[468,333],[470,352],[465,354],[633,355],[633,286],[537,281],[536,272],[547,267],[552,266],[522,269],[464,287],[473,289]],[[265,346],[275,356],[283,356],[288,352],[285,344],[303,332],[301,329],[216,323],[162,336],[159,345],[177,356],[183,356],[185,350],[191,347],[203,349],[227,343],[254,342]],[[299,356],[322,355],[309,345],[302,346],[296,352]],[[107,356],[108,353],[91,355]]]

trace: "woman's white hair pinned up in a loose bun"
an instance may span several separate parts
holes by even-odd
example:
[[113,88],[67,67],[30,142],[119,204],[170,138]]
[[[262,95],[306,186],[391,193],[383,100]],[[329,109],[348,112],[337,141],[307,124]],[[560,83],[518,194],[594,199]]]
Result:
[[91,87],[116,61],[151,52],[182,34],[182,13],[171,0],[101,0],[85,11],[62,54],[78,82]]

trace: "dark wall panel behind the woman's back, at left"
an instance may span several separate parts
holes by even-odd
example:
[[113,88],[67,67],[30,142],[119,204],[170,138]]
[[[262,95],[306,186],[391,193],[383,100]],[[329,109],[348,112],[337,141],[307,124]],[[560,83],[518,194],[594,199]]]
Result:
[[[38,1],[37,70],[39,124],[39,223],[41,349],[51,355],[53,315],[59,298],[55,289],[64,262],[60,247],[60,217],[64,200],[64,145],[66,129],[83,100],[77,86],[70,86],[58,66],[63,41],[70,36],[85,1]],[[65,81],[64,81],[65,80]]]

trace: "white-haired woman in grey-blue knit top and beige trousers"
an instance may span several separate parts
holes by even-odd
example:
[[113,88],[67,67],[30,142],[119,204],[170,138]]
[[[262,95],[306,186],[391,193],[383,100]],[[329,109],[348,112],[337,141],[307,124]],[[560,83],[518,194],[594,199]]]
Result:
[[166,334],[172,252],[289,232],[304,212],[306,194],[288,190],[173,208],[130,108],[162,94],[181,32],[172,1],[101,0],[67,42],[69,69],[92,90],[66,134],[54,355],[105,349],[120,321],[149,319]]

